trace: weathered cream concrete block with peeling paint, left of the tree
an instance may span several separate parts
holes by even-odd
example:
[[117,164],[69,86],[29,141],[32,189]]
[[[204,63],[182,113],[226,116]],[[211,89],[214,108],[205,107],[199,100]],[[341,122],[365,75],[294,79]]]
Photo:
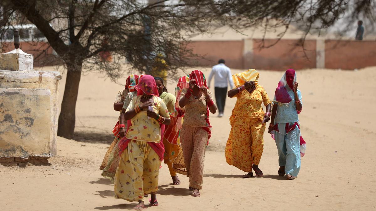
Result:
[[60,79],[60,72],[34,71],[33,55],[21,49],[0,55],[0,163],[56,155]]

